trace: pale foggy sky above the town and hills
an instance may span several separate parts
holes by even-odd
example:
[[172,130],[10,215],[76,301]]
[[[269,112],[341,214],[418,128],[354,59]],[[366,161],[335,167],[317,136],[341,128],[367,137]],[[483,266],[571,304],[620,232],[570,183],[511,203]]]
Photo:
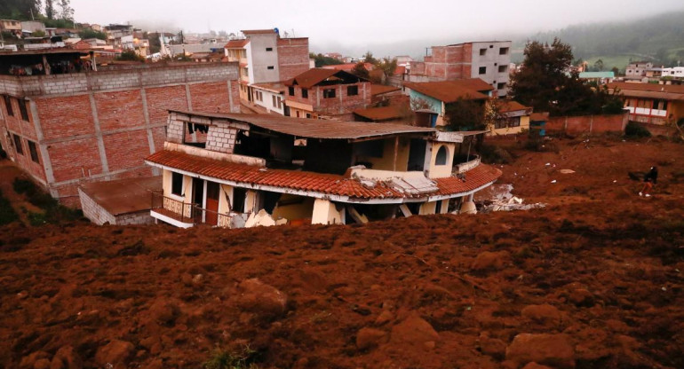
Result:
[[510,40],[574,24],[684,10],[681,0],[71,0],[71,5],[79,22],[139,26],[145,20],[147,27],[188,32],[278,27],[308,36],[312,51],[322,52],[416,40]]

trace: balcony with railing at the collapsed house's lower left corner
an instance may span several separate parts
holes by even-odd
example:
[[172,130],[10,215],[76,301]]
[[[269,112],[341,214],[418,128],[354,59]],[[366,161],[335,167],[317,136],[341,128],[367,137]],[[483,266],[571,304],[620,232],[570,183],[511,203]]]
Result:
[[152,211],[168,216],[183,224],[211,224],[230,227],[234,215],[222,214],[181,200],[164,196],[163,192],[152,192]]

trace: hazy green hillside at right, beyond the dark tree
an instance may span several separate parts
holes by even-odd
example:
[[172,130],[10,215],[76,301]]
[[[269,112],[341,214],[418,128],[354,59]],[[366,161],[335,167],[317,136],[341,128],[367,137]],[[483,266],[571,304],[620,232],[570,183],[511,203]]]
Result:
[[553,37],[559,37],[572,45],[576,59],[602,59],[607,70],[624,69],[630,59],[672,66],[677,60],[684,64],[682,19],[684,11],[668,12],[639,20],[570,26],[532,35],[530,39],[551,42]]

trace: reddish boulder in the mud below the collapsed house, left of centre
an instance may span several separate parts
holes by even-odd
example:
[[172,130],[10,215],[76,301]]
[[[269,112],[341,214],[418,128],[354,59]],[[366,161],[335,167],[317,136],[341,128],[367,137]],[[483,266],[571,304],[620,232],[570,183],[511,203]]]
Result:
[[287,295],[259,279],[245,279],[239,289],[238,304],[243,310],[269,317],[280,317],[287,310]]

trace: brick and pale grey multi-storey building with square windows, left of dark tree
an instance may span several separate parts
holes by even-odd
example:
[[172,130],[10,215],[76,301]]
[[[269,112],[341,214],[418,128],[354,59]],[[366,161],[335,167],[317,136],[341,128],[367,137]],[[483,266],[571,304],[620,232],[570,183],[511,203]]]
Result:
[[493,94],[505,97],[511,63],[510,41],[457,43],[433,46],[432,55],[410,62],[409,82],[452,81],[480,78],[489,83]]

